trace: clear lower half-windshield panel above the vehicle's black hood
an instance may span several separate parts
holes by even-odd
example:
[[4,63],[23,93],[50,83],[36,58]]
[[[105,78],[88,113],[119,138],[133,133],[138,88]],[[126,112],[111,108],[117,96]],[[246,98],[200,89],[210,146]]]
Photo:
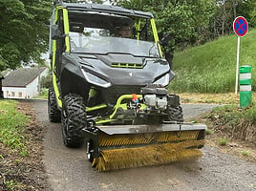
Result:
[[96,29],[84,33],[70,32],[72,53],[131,53],[135,56],[160,57],[156,43],[113,37]]

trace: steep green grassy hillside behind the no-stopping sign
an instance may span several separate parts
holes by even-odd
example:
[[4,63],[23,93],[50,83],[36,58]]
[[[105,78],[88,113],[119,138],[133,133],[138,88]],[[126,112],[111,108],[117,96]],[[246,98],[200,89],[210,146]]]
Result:
[[[241,38],[240,65],[251,65],[256,76],[256,30]],[[237,36],[221,37],[203,46],[174,55],[177,74],[169,86],[171,91],[190,93],[226,93],[235,90]],[[256,84],[256,77],[252,77]],[[256,86],[253,86],[256,90]]]

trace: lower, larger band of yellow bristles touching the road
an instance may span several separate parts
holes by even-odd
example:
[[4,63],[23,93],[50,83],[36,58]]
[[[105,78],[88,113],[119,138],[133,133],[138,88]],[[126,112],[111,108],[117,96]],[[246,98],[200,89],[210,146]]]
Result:
[[98,171],[109,171],[200,159],[203,154],[198,147],[203,144],[204,140],[186,140],[178,143],[102,150],[101,157],[94,159],[92,166]]

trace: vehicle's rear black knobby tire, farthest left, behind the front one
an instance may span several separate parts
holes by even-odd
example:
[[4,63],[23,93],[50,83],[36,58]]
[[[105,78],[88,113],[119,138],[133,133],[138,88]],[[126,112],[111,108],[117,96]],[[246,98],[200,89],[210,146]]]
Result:
[[48,91],[48,117],[51,122],[61,121],[61,112],[57,107],[55,93],[53,87],[49,88]]

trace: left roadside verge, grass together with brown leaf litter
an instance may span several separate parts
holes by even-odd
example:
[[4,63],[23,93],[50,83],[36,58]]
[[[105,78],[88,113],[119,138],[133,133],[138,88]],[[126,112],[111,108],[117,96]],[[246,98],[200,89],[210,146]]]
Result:
[[0,190],[51,190],[42,162],[46,129],[28,101],[0,99]]

